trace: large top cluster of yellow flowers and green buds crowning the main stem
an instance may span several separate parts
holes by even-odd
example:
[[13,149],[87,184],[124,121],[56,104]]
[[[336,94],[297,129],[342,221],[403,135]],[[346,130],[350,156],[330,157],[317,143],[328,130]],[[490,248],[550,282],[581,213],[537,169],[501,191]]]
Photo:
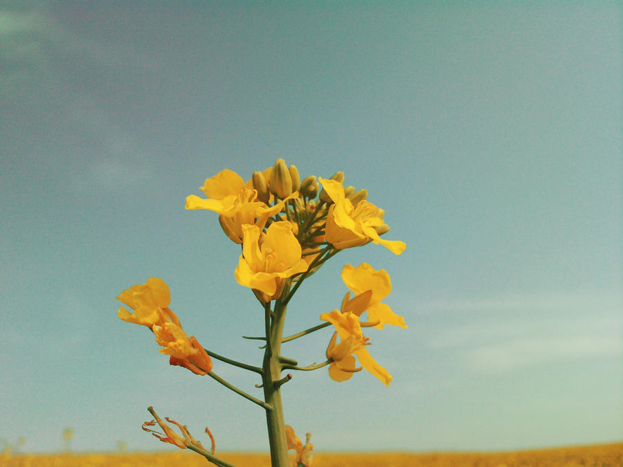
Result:
[[301,182],[296,166],[278,159],[246,182],[231,170],[219,172],[201,187],[207,199],[192,194],[186,209],[220,214],[227,237],[242,244],[236,280],[269,302],[280,296],[285,280],[310,275],[337,250],[370,241],[397,255],[404,250],[404,241],[381,239],[389,230],[383,210],[366,201],[365,190],[343,187],[343,180],[337,172]]

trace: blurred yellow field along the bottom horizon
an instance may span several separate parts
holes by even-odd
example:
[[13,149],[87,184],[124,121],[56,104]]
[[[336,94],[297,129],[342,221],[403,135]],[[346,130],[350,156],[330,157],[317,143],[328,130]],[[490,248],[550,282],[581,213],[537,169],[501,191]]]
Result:
[[[269,467],[267,454],[217,452],[237,467]],[[171,451],[156,454],[54,454],[0,455],[1,466],[19,467],[207,467],[206,459],[193,453]],[[623,466],[623,443],[578,448],[558,448],[518,452],[407,454],[332,454],[318,452],[313,467],[519,467],[519,466]]]

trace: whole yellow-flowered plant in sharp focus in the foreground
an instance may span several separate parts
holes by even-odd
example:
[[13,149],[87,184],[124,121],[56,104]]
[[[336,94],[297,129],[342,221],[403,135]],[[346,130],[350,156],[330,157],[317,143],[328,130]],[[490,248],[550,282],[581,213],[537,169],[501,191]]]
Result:
[[[380,330],[386,324],[406,328],[404,318],[381,302],[392,289],[388,273],[361,263],[343,267],[341,278],[349,291],[341,305],[336,304],[331,312],[318,310],[320,324],[282,336],[287,306],[294,293],[341,250],[372,243],[399,255],[406,248],[403,241],[381,238],[389,230],[383,220],[385,211],[367,201],[366,190],[344,187],[343,181],[343,172],[336,172],[331,178],[307,176],[301,181],[294,165],[288,167],[278,159],[273,167],[253,172],[247,181],[231,170],[223,170],[206,179],[201,187],[205,197],[186,198],[188,210],[217,212],[226,237],[240,245],[242,254],[234,271],[235,280],[251,289],[262,309],[262,313],[249,315],[260,322],[262,335],[243,337],[264,341],[260,347],[264,349],[261,365],[216,354],[204,348],[197,337],[189,336],[169,308],[168,285],[158,277],[150,277],[145,284],[134,285],[117,297],[131,310],[121,306],[118,317],[149,328],[161,346],[161,354],[169,356],[170,365],[210,376],[266,412],[273,467],[289,464],[290,449],[296,451],[294,466],[309,467],[313,449],[311,434],[307,433],[303,445],[294,430],[285,425],[281,387],[291,380],[292,374],[282,373],[327,367],[330,378],[343,382],[365,369],[388,386],[392,376],[368,352],[370,338],[363,335],[363,329]],[[309,304],[306,308],[310,308]],[[361,318],[364,313],[365,320]],[[329,326],[334,327],[334,333],[328,339],[326,360],[322,363],[298,366],[296,360],[281,354],[282,343]],[[212,359],[257,374],[260,381],[255,387],[262,388],[263,399],[218,376],[213,372]],[[166,443],[194,450],[217,466],[233,465],[215,457],[215,441],[207,428],[210,450],[192,437],[186,425],[168,417],[161,419],[151,407],[148,410],[154,419],[143,423],[143,430]]]

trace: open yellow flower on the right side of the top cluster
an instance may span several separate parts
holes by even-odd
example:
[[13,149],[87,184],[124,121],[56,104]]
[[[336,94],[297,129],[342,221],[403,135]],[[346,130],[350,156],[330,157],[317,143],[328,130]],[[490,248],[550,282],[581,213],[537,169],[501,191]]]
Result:
[[343,185],[336,181],[318,177],[325,192],[333,200],[327,214],[325,233],[327,241],[338,250],[351,248],[372,241],[381,244],[399,255],[406,248],[404,241],[383,240],[375,228],[384,226],[383,212],[368,201],[359,201],[356,206],[344,194]]

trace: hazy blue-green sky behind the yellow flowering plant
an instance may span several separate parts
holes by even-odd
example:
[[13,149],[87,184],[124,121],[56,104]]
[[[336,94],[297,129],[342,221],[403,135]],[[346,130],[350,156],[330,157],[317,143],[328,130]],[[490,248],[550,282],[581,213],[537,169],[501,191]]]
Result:
[[[258,364],[239,248],[188,194],[284,158],[345,172],[381,246],[301,287],[286,333],[339,306],[343,264],[384,268],[408,329],[392,374],[294,374],[316,450],[501,450],[623,438],[622,59],[617,2],[10,2],[0,7],[0,437],[23,450],[165,446],[153,405],[217,449],[264,414],[170,367],[116,295],[162,277],[205,347]],[[330,331],[284,345],[322,361]],[[252,394],[253,375],[215,372]]]

